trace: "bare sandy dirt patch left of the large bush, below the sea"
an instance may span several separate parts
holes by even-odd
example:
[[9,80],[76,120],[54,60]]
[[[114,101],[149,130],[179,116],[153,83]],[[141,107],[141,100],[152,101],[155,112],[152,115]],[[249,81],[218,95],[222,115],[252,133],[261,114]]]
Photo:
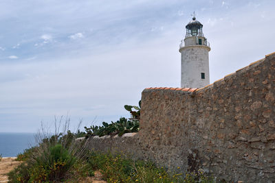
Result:
[[2,158],[0,161],[0,183],[8,182],[8,176],[6,173],[12,171],[21,162],[15,161],[15,157]]

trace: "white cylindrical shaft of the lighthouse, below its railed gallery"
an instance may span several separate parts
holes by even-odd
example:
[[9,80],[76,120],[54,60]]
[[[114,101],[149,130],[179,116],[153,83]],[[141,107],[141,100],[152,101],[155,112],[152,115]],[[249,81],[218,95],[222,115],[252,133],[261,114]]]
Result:
[[[210,47],[192,45],[181,47],[181,88],[203,88],[210,83],[209,57]],[[205,79],[201,79],[205,73]]]

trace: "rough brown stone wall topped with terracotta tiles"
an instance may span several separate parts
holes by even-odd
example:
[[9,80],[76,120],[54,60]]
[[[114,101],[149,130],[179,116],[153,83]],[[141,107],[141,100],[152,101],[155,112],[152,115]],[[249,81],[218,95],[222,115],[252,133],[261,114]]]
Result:
[[[93,138],[181,171],[227,181],[275,182],[275,54],[205,88],[146,88],[140,132]],[[128,139],[128,140],[126,140]]]

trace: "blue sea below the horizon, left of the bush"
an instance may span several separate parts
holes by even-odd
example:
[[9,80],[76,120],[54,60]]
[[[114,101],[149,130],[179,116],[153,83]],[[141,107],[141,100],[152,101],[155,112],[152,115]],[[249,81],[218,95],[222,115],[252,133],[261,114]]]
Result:
[[15,157],[35,145],[34,134],[0,132],[0,154],[3,157]]

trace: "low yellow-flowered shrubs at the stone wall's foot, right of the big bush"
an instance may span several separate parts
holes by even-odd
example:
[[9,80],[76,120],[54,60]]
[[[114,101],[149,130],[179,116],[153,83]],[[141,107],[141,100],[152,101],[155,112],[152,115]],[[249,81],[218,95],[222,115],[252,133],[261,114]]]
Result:
[[203,171],[197,173],[172,173],[152,162],[123,158],[121,155],[92,151],[88,158],[91,169],[100,169],[107,182],[186,182],[214,183]]

